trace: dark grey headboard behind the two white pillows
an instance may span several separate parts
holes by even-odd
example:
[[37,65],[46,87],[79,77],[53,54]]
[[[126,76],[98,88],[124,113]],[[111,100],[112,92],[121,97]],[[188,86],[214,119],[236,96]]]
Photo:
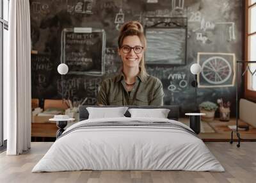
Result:
[[[121,106],[80,106],[79,107],[79,121],[87,120],[89,113],[86,107],[121,107]],[[123,106],[122,106],[123,107]],[[170,120],[179,120],[179,106],[127,106],[131,108],[139,109],[170,109],[167,118]],[[124,114],[126,117],[131,117],[131,114],[127,110]]]

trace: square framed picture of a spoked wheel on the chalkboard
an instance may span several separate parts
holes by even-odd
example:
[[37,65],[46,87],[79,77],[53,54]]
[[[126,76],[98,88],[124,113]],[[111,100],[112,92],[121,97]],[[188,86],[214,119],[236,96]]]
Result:
[[198,52],[197,63],[202,70],[197,76],[198,88],[234,86],[236,55],[222,52]]

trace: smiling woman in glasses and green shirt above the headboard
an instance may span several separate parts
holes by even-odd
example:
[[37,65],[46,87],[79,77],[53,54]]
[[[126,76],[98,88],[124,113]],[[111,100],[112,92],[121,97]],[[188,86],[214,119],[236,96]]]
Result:
[[121,72],[105,79],[100,86],[97,104],[102,106],[163,106],[163,85],[145,70],[146,39],[140,22],[126,22],[118,37]]

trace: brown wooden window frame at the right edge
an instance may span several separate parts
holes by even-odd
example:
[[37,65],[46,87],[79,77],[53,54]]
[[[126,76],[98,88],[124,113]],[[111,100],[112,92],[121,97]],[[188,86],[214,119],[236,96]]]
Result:
[[[244,61],[249,61],[249,37],[252,35],[256,35],[256,31],[253,33],[249,33],[250,19],[249,19],[249,10],[252,7],[256,7],[256,3],[250,4],[251,0],[245,1],[245,33],[244,33]],[[245,74],[244,77],[244,97],[245,99],[256,102],[256,91],[248,90],[248,74]]]

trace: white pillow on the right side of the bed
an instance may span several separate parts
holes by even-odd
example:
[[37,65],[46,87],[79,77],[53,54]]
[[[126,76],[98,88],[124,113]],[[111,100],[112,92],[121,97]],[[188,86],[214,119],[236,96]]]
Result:
[[170,109],[128,109],[131,117],[167,118]]

